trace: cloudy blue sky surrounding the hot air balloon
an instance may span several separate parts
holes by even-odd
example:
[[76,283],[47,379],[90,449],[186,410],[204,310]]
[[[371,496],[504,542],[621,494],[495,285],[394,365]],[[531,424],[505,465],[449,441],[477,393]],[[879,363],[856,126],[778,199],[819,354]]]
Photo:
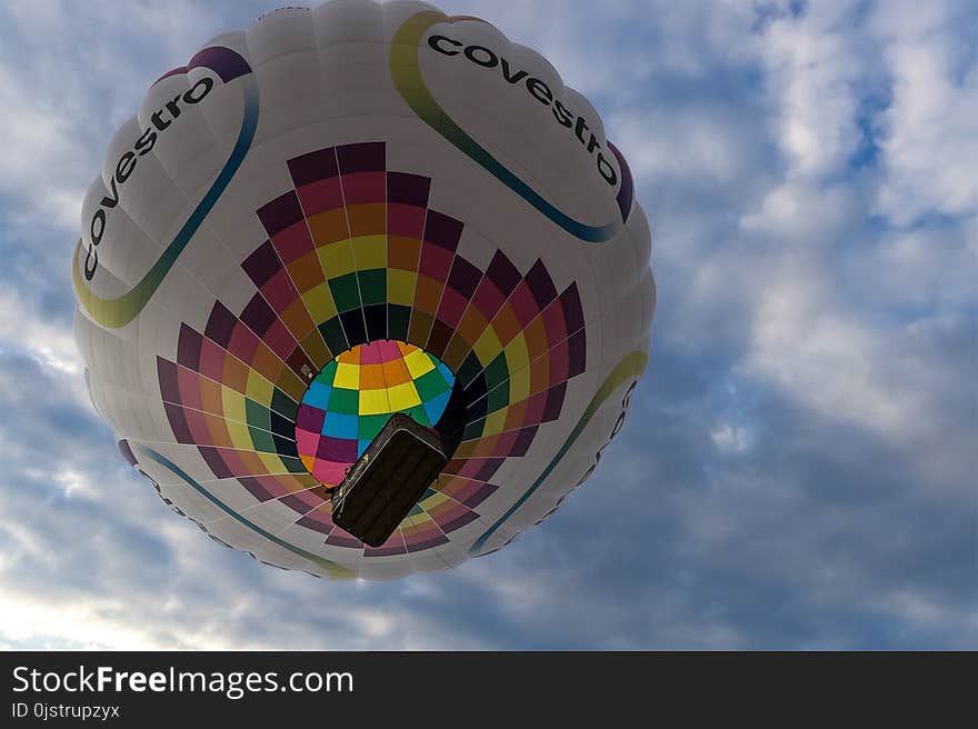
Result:
[[146,88],[270,2],[0,3],[0,648],[978,649],[978,4],[441,2],[628,158],[652,347],[587,486],[396,582],[206,539],[86,393],[82,196]]

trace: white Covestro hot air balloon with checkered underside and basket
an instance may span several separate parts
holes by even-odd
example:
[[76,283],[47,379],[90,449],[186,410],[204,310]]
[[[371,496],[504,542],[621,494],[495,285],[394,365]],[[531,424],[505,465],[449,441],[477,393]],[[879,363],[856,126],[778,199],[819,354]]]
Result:
[[122,456],[281,568],[499,549],[590,476],[647,362],[649,227],[597,111],[419,2],[207,42],[116,132],[81,228],[76,338]]

